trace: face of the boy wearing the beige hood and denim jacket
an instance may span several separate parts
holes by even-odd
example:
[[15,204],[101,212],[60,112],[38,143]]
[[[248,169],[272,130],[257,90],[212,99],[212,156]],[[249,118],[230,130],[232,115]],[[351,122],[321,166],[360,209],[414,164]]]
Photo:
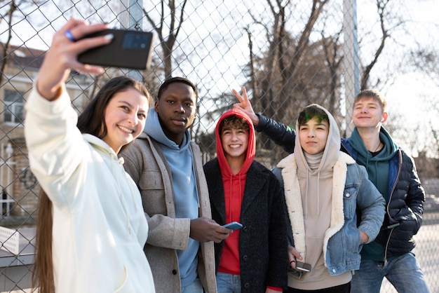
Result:
[[300,146],[306,154],[320,154],[325,150],[329,123],[315,116],[299,126]]

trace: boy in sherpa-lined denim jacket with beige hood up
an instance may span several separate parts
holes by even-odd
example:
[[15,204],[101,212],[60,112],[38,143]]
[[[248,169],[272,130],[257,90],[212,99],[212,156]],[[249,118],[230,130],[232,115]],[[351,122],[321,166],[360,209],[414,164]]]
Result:
[[374,240],[384,219],[384,198],[365,168],[339,151],[339,129],[326,109],[306,107],[296,132],[294,154],[273,173],[283,183],[290,217],[290,266],[300,271],[297,261],[303,261],[311,269],[289,273],[287,292],[349,293],[360,250]]

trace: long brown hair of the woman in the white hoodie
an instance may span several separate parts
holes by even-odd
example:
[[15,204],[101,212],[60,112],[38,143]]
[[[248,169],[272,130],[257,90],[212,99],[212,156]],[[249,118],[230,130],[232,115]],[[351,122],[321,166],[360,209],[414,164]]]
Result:
[[[149,92],[142,83],[128,76],[115,77],[105,83],[93,100],[87,105],[86,109],[79,115],[77,127],[81,133],[89,133],[100,138],[104,137],[107,134],[107,126],[104,123],[105,109],[116,93],[126,90],[127,88],[134,88],[147,97],[148,102],[151,102]],[[52,209],[50,198],[48,198],[46,192],[41,189],[38,221],[36,223],[32,292],[38,289],[41,293],[55,293],[52,259]],[[37,288],[37,286],[39,286],[39,288]]]

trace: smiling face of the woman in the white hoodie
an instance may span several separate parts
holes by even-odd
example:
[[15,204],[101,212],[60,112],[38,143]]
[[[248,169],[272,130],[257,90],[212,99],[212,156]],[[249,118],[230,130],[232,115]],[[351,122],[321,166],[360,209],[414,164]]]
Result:
[[142,133],[147,118],[148,100],[134,88],[122,90],[112,97],[105,109],[107,134],[104,142],[117,153],[125,144]]

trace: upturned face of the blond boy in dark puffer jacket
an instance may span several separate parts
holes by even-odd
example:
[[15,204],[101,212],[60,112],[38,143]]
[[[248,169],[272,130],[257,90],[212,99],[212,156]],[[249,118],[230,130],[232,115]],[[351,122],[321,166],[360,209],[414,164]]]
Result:
[[352,122],[357,128],[380,128],[388,114],[372,97],[361,97],[353,105]]

